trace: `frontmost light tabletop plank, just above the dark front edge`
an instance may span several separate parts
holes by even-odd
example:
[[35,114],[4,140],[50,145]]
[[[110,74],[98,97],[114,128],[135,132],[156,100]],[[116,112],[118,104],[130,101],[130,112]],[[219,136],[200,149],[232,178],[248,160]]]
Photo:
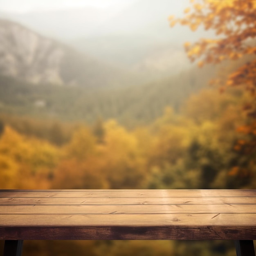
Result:
[[254,213],[172,214],[0,214],[0,227],[244,226],[256,229]]

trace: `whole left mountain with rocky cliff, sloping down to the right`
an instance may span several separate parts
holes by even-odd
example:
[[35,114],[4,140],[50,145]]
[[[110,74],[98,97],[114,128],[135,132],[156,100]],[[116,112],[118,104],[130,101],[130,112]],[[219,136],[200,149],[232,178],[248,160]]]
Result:
[[0,74],[34,84],[105,87],[134,82],[131,74],[8,20],[0,20]]

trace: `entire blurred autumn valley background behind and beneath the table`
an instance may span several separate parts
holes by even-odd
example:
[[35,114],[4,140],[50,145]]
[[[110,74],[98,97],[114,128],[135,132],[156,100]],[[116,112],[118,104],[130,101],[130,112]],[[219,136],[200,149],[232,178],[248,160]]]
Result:
[[[252,30],[256,5],[215,2],[228,2],[212,12],[231,32],[189,0],[0,0],[0,188],[255,189],[256,79],[240,68],[255,62],[255,33],[236,19]],[[213,41],[193,47],[201,38]],[[193,61],[203,54],[207,65]],[[243,72],[251,87],[223,90]],[[236,255],[232,241],[25,241],[23,252]]]

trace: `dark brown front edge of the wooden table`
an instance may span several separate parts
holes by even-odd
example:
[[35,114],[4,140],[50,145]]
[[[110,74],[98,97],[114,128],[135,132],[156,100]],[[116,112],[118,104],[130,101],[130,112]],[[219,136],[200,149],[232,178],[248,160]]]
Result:
[[[4,237],[25,240],[236,240],[255,239],[255,230],[222,227],[28,227],[4,228]],[[0,239],[2,237],[0,230]]]

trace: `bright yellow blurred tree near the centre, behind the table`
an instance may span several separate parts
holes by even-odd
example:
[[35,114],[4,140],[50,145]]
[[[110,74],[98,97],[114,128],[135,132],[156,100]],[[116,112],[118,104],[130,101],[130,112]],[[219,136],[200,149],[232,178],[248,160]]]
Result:
[[136,136],[115,120],[104,125],[105,141],[100,160],[105,164],[103,172],[111,189],[135,189],[145,177],[144,157],[138,149]]

